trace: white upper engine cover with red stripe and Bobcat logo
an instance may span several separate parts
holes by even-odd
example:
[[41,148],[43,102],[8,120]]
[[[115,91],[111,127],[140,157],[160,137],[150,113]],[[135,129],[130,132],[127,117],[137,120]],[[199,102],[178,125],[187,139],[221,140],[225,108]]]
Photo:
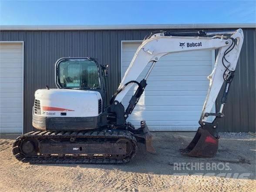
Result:
[[95,117],[102,111],[99,104],[102,106],[101,94],[98,91],[39,89],[35,92],[34,115]]

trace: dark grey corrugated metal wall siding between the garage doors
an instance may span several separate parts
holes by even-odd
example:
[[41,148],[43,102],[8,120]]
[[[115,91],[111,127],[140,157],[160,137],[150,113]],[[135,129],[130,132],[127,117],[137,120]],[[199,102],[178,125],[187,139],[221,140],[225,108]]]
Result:
[[[256,30],[243,30],[245,40],[224,110],[226,118],[219,126],[220,131],[255,132]],[[151,31],[1,31],[0,41],[24,41],[24,132],[33,130],[34,92],[45,88],[45,85],[55,88],[54,63],[58,58],[90,56],[100,64],[109,64],[110,89],[113,94],[121,81],[121,40],[142,40]]]

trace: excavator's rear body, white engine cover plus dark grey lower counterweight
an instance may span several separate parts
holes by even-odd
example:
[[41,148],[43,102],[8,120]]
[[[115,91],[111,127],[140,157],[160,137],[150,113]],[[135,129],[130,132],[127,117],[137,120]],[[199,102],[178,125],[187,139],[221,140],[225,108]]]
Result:
[[101,113],[98,91],[39,89],[35,92],[33,127],[55,131],[95,129]]

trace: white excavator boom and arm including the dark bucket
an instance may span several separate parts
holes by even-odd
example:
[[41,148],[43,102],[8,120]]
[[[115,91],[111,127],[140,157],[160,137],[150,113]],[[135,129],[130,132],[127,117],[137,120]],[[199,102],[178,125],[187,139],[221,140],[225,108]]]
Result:
[[[121,101],[133,84],[138,85],[138,89],[132,96],[125,113],[118,113],[119,121],[117,122],[122,123],[126,118],[128,118],[128,115],[131,114],[147,85],[146,80],[150,72],[155,66],[155,63],[159,61],[161,57],[167,54],[186,51],[218,49],[214,68],[212,73],[208,76],[209,89],[199,120],[199,124],[201,126],[199,127],[193,141],[187,148],[182,150],[183,154],[191,156],[212,157],[216,154],[218,148],[219,135],[217,131],[217,120],[224,117],[222,109],[226,103],[226,97],[236,70],[236,64],[242,44],[242,29],[238,29],[236,31],[209,33],[204,31],[176,33],[160,31],[155,34],[150,34],[145,38],[141,46],[138,47],[131,64],[125,72],[121,84],[118,87],[118,91],[111,99],[112,110],[118,111],[119,109],[119,111],[123,111],[117,106],[122,106]],[[145,78],[140,83],[135,81],[150,62],[152,62],[152,65]],[[170,71],[170,73],[171,72],[172,71]],[[216,98],[224,82],[226,82],[226,87],[223,93],[221,107],[217,113],[211,113],[212,107],[215,104]],[[123,106],[121,108],[123,108]],[[209,116],[215,117],[212,122],[207,122],[207,118]]]

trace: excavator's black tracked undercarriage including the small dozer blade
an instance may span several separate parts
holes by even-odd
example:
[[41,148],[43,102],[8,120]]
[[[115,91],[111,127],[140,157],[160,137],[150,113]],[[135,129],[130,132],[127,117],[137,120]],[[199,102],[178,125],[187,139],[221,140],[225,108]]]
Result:
[[133,132],[118,129],[101,131],[32,131],[13,144],[13,155],[21,162],[120,164],[135,157],[137,142],[155,152],[145,121]]

